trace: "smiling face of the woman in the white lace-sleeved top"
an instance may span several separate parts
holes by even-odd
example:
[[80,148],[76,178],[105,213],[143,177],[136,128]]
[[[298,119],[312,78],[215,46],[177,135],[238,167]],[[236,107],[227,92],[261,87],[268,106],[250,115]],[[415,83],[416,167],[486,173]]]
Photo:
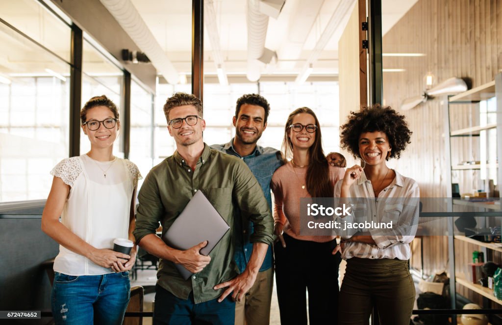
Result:
[[[106,106],[96,106],[89,109],[86,113],[86,121],[103,121],[105,119],[114,118],[113,112]],[[91,142],[91,147],[105,148],[112,146],[113,142],[117,138],[119,123],[115,123],[115,126],[111,129],[107,129],[103,126],[103,123],[99,123],[99,128],[95,131],[89,130],[87,125],[82,125],[82,130],[89,137]]]

